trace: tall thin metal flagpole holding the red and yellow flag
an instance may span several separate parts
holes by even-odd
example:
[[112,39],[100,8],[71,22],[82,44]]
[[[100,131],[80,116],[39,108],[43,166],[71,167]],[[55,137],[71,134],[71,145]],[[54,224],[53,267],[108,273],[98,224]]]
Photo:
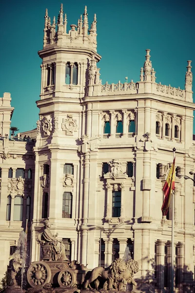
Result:
[[[176,148],[173,148],[173,156],[175,159]],[[175,190],[172,190],[172,229],[171,229],[171,293],[174,293],[174,209],[175,209]]]

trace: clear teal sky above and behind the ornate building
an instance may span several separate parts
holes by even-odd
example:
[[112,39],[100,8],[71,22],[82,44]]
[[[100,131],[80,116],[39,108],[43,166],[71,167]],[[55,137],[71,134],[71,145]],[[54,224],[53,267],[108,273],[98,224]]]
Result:
[[[195,67],[193,0],[9,0],[0,3],[0,96],[10,92],[15,107],[12,126],[36,127],[45,8],[53,20],[60,3],[68,28],[87,5],[89,25],[97,14],[102,83],[139,81],[145,49],[151,49],[156,82],[184,88],[187,60]],[[193,69],[192,69],[193,71]],[[194,78],[195,80],[195,78]]]

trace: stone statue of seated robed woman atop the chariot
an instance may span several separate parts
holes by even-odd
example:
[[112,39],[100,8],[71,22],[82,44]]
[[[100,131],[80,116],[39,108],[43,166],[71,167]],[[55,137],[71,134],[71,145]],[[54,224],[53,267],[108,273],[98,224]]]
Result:
[[[51,223],[49,220],[45,220],[44,222],[44,230],[42,233],[38,235],[38,241],[40,245],[42,246],[42,249],[44,246],[50,246],[51,247],[51,257],[52,260],[67,260],[66,254],[65,254],[65,246],[62,241],[60,241],[57,236],[58,233],[53,235],[51,233]],[[46,253],[48,254],[48,253]],[[43,253],[44,255],[44,253]]]

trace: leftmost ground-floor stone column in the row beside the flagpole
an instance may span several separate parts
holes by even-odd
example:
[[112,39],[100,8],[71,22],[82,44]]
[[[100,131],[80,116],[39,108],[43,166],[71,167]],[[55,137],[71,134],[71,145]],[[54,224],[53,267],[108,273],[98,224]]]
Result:
[[165,259],[165,242],[156,241],[156,281],[157,287],[164,289],[164,259]]

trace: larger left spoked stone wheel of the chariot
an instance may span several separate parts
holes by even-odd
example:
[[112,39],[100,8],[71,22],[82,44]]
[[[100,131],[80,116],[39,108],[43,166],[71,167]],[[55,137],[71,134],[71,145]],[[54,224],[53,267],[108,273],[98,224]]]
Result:
[[27,280],[32,288],[42,288],[51,280],[51,270],[44,261],[32,263],[27,272]]

